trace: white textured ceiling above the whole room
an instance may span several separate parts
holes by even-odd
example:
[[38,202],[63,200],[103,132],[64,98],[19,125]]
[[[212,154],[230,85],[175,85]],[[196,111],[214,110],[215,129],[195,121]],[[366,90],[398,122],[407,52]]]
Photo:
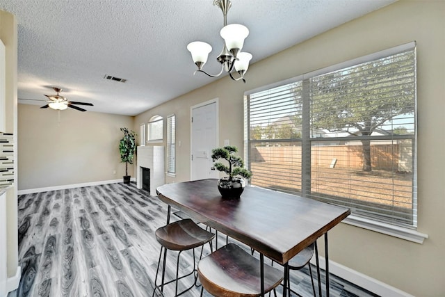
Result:
[[[252,63],[396,0],[232,0],[228,24],[250,30]],[[188,42],[212,45],[219,72],[223,14],[213,0],[0,0],[17,17],[18,97],[45,100],[52,86],[88,111],[137,115],[214,79],[196,74]],[[127,79],[104,79],[108,74]],[[248,79],[248,73],[246,74]],[[234,83],[242,83],[234,82]],[[41,104],[20,100],[24,104]]]

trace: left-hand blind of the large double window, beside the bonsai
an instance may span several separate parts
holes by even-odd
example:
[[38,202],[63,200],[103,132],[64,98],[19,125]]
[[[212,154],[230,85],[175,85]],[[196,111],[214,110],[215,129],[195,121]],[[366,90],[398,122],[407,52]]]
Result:
[[[250,95],[251,183],[299,191],[301,184],[302,83]],[[291,178],[284,178],[291,177]]]

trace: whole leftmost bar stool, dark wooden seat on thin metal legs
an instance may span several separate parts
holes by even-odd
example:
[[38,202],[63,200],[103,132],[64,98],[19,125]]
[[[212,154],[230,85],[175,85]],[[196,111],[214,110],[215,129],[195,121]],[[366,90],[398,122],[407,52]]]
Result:
[[[186,218],[184,220],[178,220],[175,223],[170,223],[168,225],[160,227],[158,230],[156,230],[155,234],[156,234],[156,240],[159,243],[161,243],[161,252],[159,252],[159,261],[158,261],[158,267],[156,268],[156,277],[154,278],[154,290],[152,296],[154,296],[156,289],[161,289],[161,292],[163,293],[163,287],[166,284],[170,284],[171,282],[176,282],[175,296],[184,294],[186,291],[192,289],[196,285],[197,281],[195,248],[202,246],[200,258],[202,257],[202,250],[204,248],[204,244],[209,243],[210,250],[213,251],[211,241],[213,237],[215,237],[215,234],[203,230],[201,227],[196,225],[196,223],[193,222],[193,220],[191,220],[190,218]],[[184,275],[181,275],[181,277],[179,277],[179,257],[181,256],[181,252],[183,252],[184,250],[191,250],[191,249],[193,249],[193,270],[190,273],[186,273]],[[167,259],[167,250],[177,250],[178,256],[176,263],[176,278],[165,282],[165,266],[166,266],[165,262]],[[163,265],[162,265],[161,284],[157,284],[162,255],[163,255]],[[192,275],[193,273],[195,273],[194,275],[195,280],[191,285],[191,287],[188,287],[184,291],[178,293],[178,280],[181,280],[181,278],[186,278],[188,275]]]

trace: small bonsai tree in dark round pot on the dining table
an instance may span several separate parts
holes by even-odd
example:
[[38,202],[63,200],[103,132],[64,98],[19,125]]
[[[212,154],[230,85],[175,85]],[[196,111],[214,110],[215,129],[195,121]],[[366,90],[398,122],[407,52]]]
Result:
[[245,181],[252,176],[252,172],[244,168],[244,161],[241,156],[236,156],[238,148],[232,145],[218,147],[213,149],[211,159],[213,162],[219,159],[225,159],[229,166],[223,163],[213,163],[212,170],[216,169],[227,173],[227,177],[218,179],[218,190],[223,198],[239,198],[244,191]]

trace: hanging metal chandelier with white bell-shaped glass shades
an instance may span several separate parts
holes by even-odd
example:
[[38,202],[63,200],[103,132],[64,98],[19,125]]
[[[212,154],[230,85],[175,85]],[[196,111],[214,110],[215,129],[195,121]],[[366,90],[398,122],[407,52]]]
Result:
[[[194,41],[187,45],[188,51],[192,54],[193,62],[197,65],[197,70],[193,74],[202,72],[209,77],[219,77],[224,70],[225,72],[229,72],[230,77],[234,81],[242,79],[245,83],[244,74],[248,71],[252,54],[241,52],[241,49],[244,45],[244,39],[249,35],[249,29],[240,24],[227,25],[227,11],[229,11],[229,8],[232,6],[230,0],[214,0],[213,5],[219,6],[219,8],[223,10],[224,15],[224,27],[220,31],[220,35],[224,39],[224,48],[216,58],[216,61],[221,64],[221,71],[218,74],[212,75],[202,70],[202,66],[207,62],[207,58],[211,52],[211,46],[206,42]],[[234,69],[239,74],[238,78],[232,75]]]

